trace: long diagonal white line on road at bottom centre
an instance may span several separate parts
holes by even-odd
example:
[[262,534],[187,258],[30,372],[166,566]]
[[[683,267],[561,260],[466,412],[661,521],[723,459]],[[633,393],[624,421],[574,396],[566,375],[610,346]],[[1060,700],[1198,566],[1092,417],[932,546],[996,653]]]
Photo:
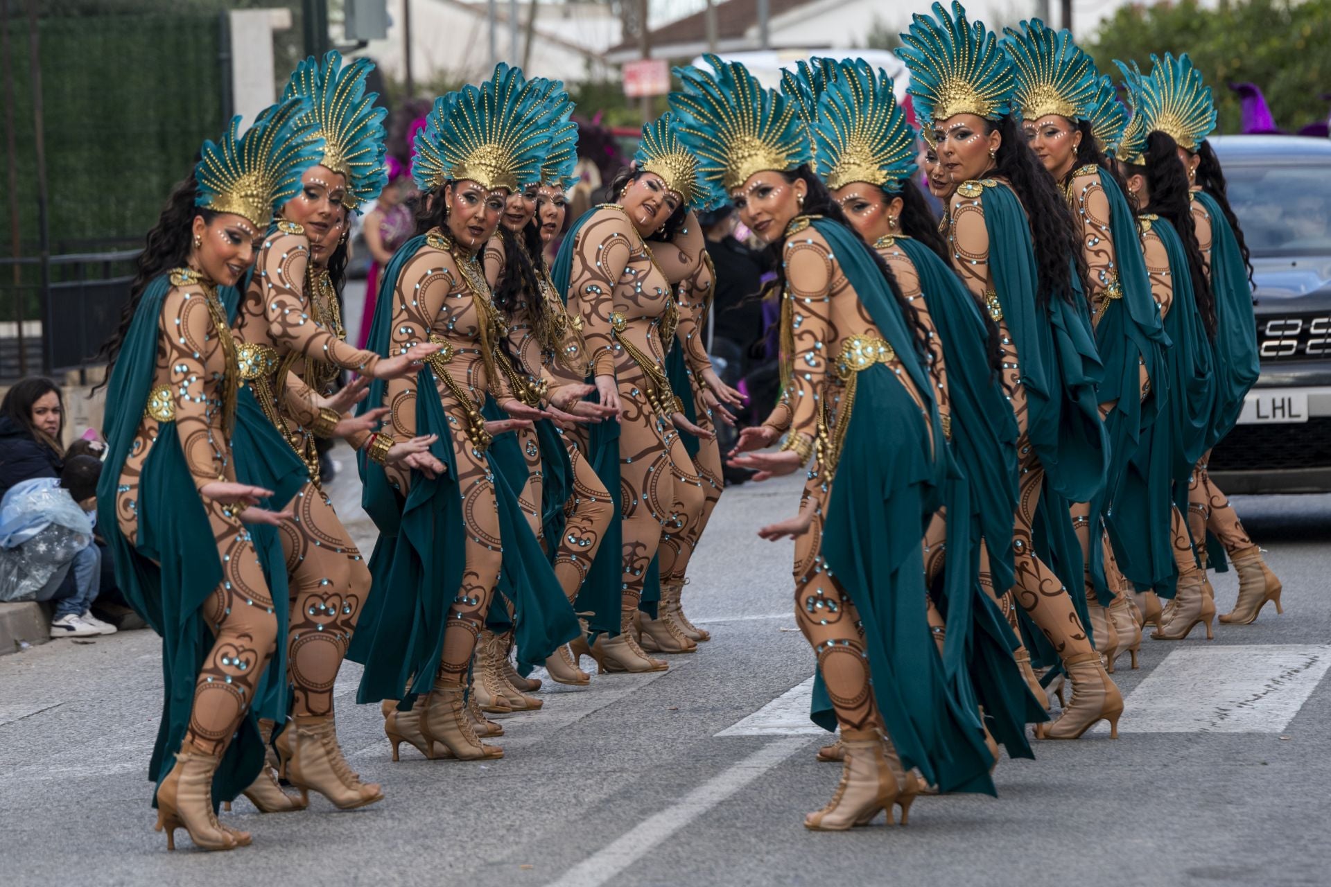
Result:
[[808,739],[799,738],[769,742],[689,791],[679,803],[643,819],[634,828],[566,871],[562,878],[550,882],[547,887],[600,887],[676,831],[789,758],[807,743]]

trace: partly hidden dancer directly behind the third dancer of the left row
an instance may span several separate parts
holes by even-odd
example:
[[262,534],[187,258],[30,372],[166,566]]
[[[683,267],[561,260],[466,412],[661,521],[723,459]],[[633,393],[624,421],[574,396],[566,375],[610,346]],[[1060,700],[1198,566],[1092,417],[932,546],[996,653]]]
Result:
[[[528,88],[539,90],[550,105],[544,116],[552,120],[554,148],[542,165],[542,182],[567,181],[578,160],[578,126],[568,120],[572,101],[559,81],[536,78],[530,81]],[[555,423],[572,427],[599,422],[611,411],[583,400],[592,391],[583,382],[586,367],[583,374],[574,376],[558,372],[555,362],[547,362],[547,356],[570,347],[570,356],[580,355],[582,346],[570,339],[570,335],[576,336],[576,330],[570,328],[563,302],[548,285],[540,229],[535,219],[536,189],[531,185],[508,194],[482,263],[486,281],[494,290],[495,307],[507,326],[500,347],[503,354],[495,363],[519,400],[543,407],[554,419],[540,419],[534,428],[519,428],[515,436],[495,440],[494,455],[510,485],[519,491],[518,503],[536,539],[551,555],[564,596],[572,602],[584,572],[576,569],[576,563],[591,563],[594,552],[587,551],[587,540],[602,537],[612,509],[608,497],[574,496],[574,465]],[[487,400],[484,415],[488,419],[504,418],[494,398]],[[566,516],[564,507],[570,499],[572,508]],[[564,568],[559,567],[560,563]],[[507,606],[491,606],[488,625],[480,634],[478,654],[480,668],[475,688],[480,707],[498,713],[540,707],[540,699],[527,696],[540,688],[540,681],[520,676],[508,660],[512,625]],[[563,645],[546,660],[546,670],[551,680],[560,684],[586,685],[590,680],[572,664]]]

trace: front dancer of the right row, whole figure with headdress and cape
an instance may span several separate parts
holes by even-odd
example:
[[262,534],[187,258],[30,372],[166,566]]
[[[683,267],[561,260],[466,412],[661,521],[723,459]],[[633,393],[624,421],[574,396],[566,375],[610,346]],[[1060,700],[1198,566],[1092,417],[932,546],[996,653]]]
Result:
[[763,89],[743,65],[708,63],[715,73],[676,72],[679,137],[783,259],[789,435],[777,453],[732,463],[763,480],[817,453],[799,515],[760,531],[796,539],[796,618],[845,746],[841,786],[804,824],[844,830],[880,810],[890,822],[894,805],[904,819],[921,789],[914,767],[946,790],[992,791],[993,755],[973,699],[949,685],[925,614],[920,540],[946,451],[917,354],[922,330],[881,259],[833,221],[840,213],[809,169],[796,102]]

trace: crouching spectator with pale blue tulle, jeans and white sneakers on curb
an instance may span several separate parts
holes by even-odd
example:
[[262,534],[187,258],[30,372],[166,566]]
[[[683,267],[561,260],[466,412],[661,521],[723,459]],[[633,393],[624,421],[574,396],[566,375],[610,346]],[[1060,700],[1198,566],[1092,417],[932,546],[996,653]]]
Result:
[[89,517],[100,476],[101,460],[72,456],[59,480],[21,480],[0,500],[0,601],[51,601],[51,637],[116,632],[91,613],[101,588]]

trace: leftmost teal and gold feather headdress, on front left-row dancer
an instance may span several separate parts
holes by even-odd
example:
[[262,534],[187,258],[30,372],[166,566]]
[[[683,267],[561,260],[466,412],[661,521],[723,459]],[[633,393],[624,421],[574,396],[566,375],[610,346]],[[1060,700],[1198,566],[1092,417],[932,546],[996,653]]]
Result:
[[273,207],[301,190],[301,176],[319,162],[323,140],[314,134],[307,98],[286,98],[264,110],[238,134],[233,117],[218,142],[205,141],[194,165],[194,206],[234,213],[260,231],[273,222]]

